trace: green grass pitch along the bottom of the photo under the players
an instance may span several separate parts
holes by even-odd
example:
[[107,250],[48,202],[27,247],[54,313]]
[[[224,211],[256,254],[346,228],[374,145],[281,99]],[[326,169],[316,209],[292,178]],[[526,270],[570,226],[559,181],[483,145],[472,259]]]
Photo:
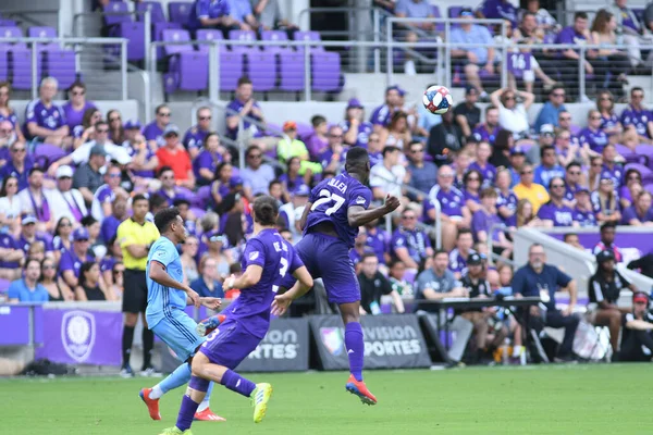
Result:
[[[651,365],[550,365],[367,372],[379,398],[367,407],[345,391],[345,373],[252,374],[274,395],[266,420],[249,401],[217,387],[226,423],[209,434],[651,434]],[[161,399],[153,422],[138,398],[153,380],[0,380],[1,434],[156,435],[174,425],[183,388]]]

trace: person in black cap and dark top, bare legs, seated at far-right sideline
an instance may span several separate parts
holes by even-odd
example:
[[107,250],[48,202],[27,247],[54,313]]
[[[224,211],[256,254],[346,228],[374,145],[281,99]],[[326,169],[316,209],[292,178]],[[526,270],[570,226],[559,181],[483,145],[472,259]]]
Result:
[[588,282],[590,303],[590,323],[609,328],[609,344],[615,355],[619,351],[619,332],[621,328],[621,310],[617,306],[623,289],[637,291],[627,278],[615,268],[615,256],[612,251],[596,254],[596,272]]

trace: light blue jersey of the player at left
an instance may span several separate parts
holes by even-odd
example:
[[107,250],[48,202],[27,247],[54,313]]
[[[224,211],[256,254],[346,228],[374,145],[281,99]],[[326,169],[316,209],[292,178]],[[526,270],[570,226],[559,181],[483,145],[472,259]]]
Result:
[[186,294],[176,288],[164,287],[155,283],[149,277],[149,264],[151,261],[163,264],[165,272],[175,281],[184,281],[182,260],[176,247],[168,237],[160,237],[151,246],[147,256],[147,310],[145,316],[147,323],[153,328],[164,318],[172,319],[172,312],[183,311],[186,308]]

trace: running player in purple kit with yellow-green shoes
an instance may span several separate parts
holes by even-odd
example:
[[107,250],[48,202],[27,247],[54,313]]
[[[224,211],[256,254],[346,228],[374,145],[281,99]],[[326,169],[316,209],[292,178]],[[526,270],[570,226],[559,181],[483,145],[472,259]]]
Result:
[[270,384],[254,384],[233,370],[256,349],[270,326],[270,307],[281,279],[293,274],[297,283],[293,291],[306,293],[312,278],[292,245],[276,231],[279,206],[272,197],[254,201],[254,236],[243,252],[238,278],[233,275],[224,290],[239,288],[241,296],[225,310],[226,320],[211,333],[193,359],[193,377],[182,399],[176,425],[161,435],[190,434],[190,424],[202,401],[209,382],[218,382],[232,391],[249,397],[254,406],[254,422],[266,415],[272,395]]

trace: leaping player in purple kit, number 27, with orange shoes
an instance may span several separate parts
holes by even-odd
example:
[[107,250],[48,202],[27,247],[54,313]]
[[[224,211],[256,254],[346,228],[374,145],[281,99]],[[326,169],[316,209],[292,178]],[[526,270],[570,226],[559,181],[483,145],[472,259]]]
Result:
[[[340,307],[352,373],[346,389],[364,403],[375,405],[377,398],[362,382],[365,343],[359,323],[360,287],[349,249],[354,247],[359,226],[393,212],[401,202],[389,195],[383,206],[368,209],[372,198],[366,186],[369,176],[368,152],[365,148],[352,148],[347,151],[345,172],[312,189],[300,221],[304,237],[295,249],[311,276],[322,277],[329,301]],[[291,284],[292,279],[284,279],[282,287],[289,288]],[[276,296],[273,313],[285,312],[301,295],[300,288],[294,287]]]

